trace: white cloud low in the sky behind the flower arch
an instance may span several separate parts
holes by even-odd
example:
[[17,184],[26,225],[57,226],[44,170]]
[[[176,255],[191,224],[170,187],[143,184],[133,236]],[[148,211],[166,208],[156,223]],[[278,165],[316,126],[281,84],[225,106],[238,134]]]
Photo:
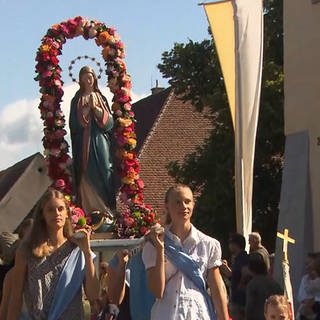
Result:
[[[76,83],[64,87],[64,96],[61,108],[66,120],[69,119],[70,101],[77,90]],[[101,90],[109,103],[112,94],[105,88]],[[146,94],[132,93],[133,102],[147,96]],[[40,97],[31,100],[14,101],[0,110],[0,171],[14,165],[36,152],[43,152],[42,137],[43,125],[40,119],[38,105]],[[67,128],[68,131],[68,128]],[[66,140],[70,144],[69,133]]]

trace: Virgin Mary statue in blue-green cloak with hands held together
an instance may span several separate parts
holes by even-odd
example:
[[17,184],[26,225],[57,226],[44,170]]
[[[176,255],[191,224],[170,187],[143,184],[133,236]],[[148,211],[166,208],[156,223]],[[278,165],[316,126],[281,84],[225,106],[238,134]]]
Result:
[[113,117],[91,67],[79,72],[69,126],[76,203],[90,214],[116,207],[112,152]]

